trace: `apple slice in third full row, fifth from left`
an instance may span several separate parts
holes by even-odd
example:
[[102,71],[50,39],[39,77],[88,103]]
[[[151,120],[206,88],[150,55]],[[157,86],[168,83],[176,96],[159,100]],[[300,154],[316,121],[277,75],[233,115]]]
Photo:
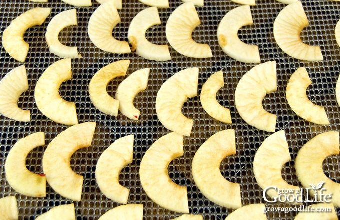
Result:
[[223,207],[242,207],[238,183],[227,181],[221,175],[222,160],[236,153],[235,131],[223,130],[207,139],[192,160],[192,176],[199,190],[212,202]]

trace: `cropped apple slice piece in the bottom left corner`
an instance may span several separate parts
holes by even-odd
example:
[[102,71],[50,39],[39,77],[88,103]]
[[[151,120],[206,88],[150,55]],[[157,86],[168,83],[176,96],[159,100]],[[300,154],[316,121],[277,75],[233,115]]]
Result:
[[19,211],[15,196],[7,196],[0,199],[0,219],[18,220]]

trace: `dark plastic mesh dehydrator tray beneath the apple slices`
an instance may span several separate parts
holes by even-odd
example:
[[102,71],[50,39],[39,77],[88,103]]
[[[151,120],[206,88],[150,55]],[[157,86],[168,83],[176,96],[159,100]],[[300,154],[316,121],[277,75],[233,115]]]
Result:
[[[125,135],[133,134],[134,159],[120,174],[120,183],[130,189],[128,203],[144,205],[143,219],[172,219],[180,216],[154,203],[143,191],[139,178],[141,159],[146,150],[161,136],[169,133],[158,120],[155,110],[155,99],[160,86],[174,73],[188,68],[199,68],[198,96],[188,99],[183,105],[183,113],[194,120],[190,137],[184,137],[184,156],[174,159],[168,168],[170,178],[179,185],[187,187],[190,213],[201,214],[204,219],[224,219],[231,209],[214,204],[203,196],[195,185],[191,175],[192,158],[211,135],[225,130],[235,130],[236,154],[225,158],[221,165],[221,174],[229,181],[240,184],[242,205],[264,203],[270,207],[280,207],[281,204],[268,204],[262,193],[263,189],[256,183],[252,163],[256,150],[271,134],[248,125],[239,115],[235,107],[234,93],[240,78],[255,64],[245,64],[235,61],[226,55],[217,40],[217,26],[223,16],[231,9],[240,6],[230,0],[205,0],[204,6],[196,6],[201,24],[194,29],[193,38],[199,43],[207,43],[211,47],[213,57],[196,59],[177,53],[170,46],[172,60],[150,61],[135,52],[128,54],[113,54],[100,50],[89,39],[87,25],[93,11],[99,3],[93,0],[90,7],[75,7],[61,0],[49,0],[47,3],[33,3],[27,0],[1,0],[0,2],[0,36],[10,22],[21,13],[34,7],[50,7],[51,14],[41,26],[29,28],[24,39],[30,45],[28,56],[23,63],[27,69],[29,89],[18,101],[18,106],[31,110],[30,122],[18,122],[3,115],[0,116],[0,198],[15,196],[18,202],[19,219],[35,219],[42,213],[60,204],[75,204],[76,219],[98,219],[108,210],[119,204],[107,199],[96,184],[94,171],[98,158],[115,140]],[[156,44],[166,44],[166,21],[171,12],[182,1],[170,0],[169,8],[159,8],[161,24],[150,28],[146,35],[149,41]],[[264,108],[277,115],[276,131],[284,130],[291,160],[282,169],[282,177],[289,184],[302,187],[297,179],[294,159],[298,150],[317,134],[326,131],[340,131],[340,108],[336,102],[335,85],[340,75],[340,47],[335,40],[335,25],[340,19],[340,2],[331,0],[302,0],[303,8],[310,24],[302,30],[301,39],[310,45],[319,45],[324,57],[323,61],[301,61],[288,56],[278,47],[273,36],[273,22],[285,4],[276,0],[256,0],[251,6],[252,25],[244,26],[238,31],[239,38],[248,44],[259,46],[261,63],[277,62],[277,91],[268,94],[263,100]],[[138,0],[123,0],[123,8],[119,10],[121,22],[113,30],[113,36],[118,40],[127,40],[127,31],[133,17],[142,9],[148,7]],[[93,141],[90,147],[80,149],[71,159],[72,169],[84,176],[81,201],[72,201],[61,197],[47,184],[47,196],[44,198],[27,197],[15,192],[6,181],[4,164],[11,147],[21,138],[33,132],[45,133],[46,144],[34,149],[27,157],[27,168],[36,173],[42,173],[42,156],[48,143],[68,126],[61,125],[46,118],[37,108],[34,101],[34,87],[44,70],[59,60],[60,57],[49,52],[45,41],[45,31],[48,22],[61,11],[76,8],[77,26],[65,28],[59,35],[59,40],[70,46],[77,46],[83,58],[72,59],[72,79],[60,87],[60,95],[76,103],[79,123],[94,121],[97,123]],[[14,67],[21,65],[0,48],[0,78],[3,78]],[[91,103],[88,84],[93,75],[103,66],[114,61],[127,59],[130,66],[127,76],[141,68],[150,68],[147,89],[135,98],[135,105],[141,110],[138,121],[130,120],[121,113],[117,117],[100,112]],[[297,116],[289,107],[285,89],[291,74],[304,66],[312,80],[307,89],[309,99],[324,106],[330,125],[316,125]],[[199,94],[202,84],[218,70],[224,73],[224,87],[216,95],[219,103],[231,111],[232,124],[224,124],[211,118],[202,108]],[[116,78],[108,85],[110,95],[115,94],[117,85],[124,78]],[[340,183],[339,156],[327,157],[323,170],[333,181]],[[227,198],[226,198],[227,199]],[[289,207],[289,205],[283,205]],[[340,216],[340,209],[336,208]],[[293,219],[296,211],[268,211],[268,219]]]

